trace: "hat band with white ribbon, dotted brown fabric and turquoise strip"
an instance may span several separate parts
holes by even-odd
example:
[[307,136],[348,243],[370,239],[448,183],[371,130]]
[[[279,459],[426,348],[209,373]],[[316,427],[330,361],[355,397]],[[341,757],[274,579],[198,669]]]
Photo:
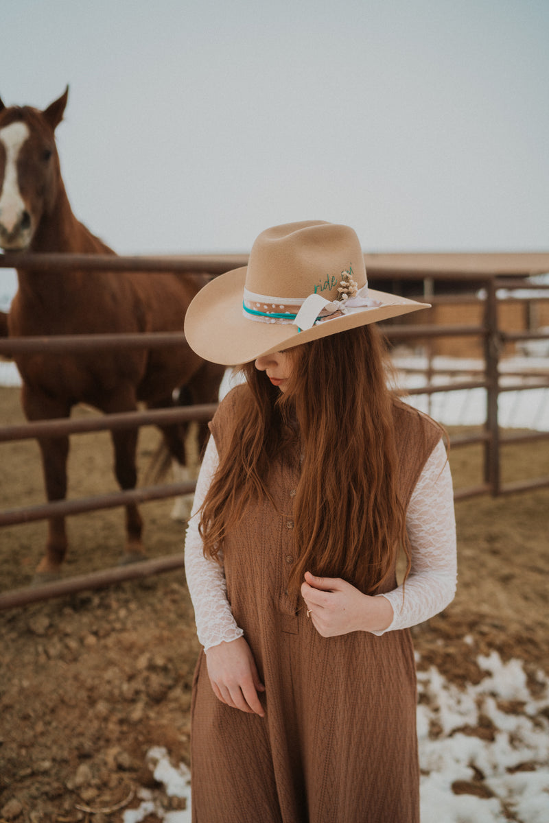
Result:
[[258,295],[244,287],[242,309],[244,317],[258,323],[295,324],[298,331],[313,328],[318,323],[364,309],[375,309],[379,300],[368,297],[368,286],[363,286],[347,300],[326,300],[319,294],[305,298]]

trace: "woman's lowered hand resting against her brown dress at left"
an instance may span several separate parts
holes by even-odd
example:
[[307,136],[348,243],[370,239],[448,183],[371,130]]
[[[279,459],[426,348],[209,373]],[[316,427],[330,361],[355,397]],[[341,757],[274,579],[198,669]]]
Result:
[[265,686],[244,637],[212,646],[206,653],[206,665],[212,689],[221,703],[265,716],[258,698],[258,691],[264,691]]

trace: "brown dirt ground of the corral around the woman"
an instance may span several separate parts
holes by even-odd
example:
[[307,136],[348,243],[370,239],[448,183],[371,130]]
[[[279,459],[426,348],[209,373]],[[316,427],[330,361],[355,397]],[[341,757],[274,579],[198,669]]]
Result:
[[[0,388],[0,421],[21,420],[18,389]],[[142,430],[142,470],[157,439],[156,430]],[[547,441],[509,447],[505,478],[547,474],[548,458]],[[43,502],[34,441],[1,444],[0,460],[2,509]],[[480,449],[455,449],[450,463],[457,488],[480,481]],[[69,495],[114,491],[111,464],[109,435],[73,436]],[[496,649],[524,662],[535,693],[536,672],[549,672],[548,509],[549,489],[457,503],[458,594],[413,630],[421,668],[478,682],[477,655]],[[170,510],[170,500],[142,507],[150,557],[182,550],[184,525]],[[68,531],[66,576],[116,565],[120,509],[77,515]],[[0,529],[2,591],[30,583],[44,534],[43,522]],[[165,746],[174,764],[188,763],[198,641],[183,570],[2,611],[0,631],[0,821],[116,823],[122,811],[111,810],[140,786],[155,789],[166,809],[177,806],[145,755]]]

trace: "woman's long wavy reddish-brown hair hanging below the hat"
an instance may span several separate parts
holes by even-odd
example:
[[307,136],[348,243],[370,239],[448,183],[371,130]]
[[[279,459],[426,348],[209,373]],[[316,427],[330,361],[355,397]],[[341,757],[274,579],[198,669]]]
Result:
[[287,353],[293,368],[283,394],[254,363],[243,367],[249,402],[239,408],[202,506],[204,554],[218,555],[250,500],[267,496],[276,506],[266,485],[269,469],[300,459],[289,588],[298,590],[309,570],[375,593],[400,546],[408,566],[410,557],[384,344],[367,325]]

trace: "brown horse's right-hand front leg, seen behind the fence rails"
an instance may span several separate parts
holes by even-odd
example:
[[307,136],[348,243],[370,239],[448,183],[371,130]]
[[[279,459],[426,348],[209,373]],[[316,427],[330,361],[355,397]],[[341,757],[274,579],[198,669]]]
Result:
[[[137,402],[132,392],[116,398],[110,398],[108,403],[101,405],[103,412],[135,412]],[[137,485],[137,429],[111,430],[111,439],[114,447],[114,474],[122,491],[135,489]],[[133,563],[145,558],[145,548],[142,542],[143,521],[137,504],[126,505],[126,548],[121,562]]]

